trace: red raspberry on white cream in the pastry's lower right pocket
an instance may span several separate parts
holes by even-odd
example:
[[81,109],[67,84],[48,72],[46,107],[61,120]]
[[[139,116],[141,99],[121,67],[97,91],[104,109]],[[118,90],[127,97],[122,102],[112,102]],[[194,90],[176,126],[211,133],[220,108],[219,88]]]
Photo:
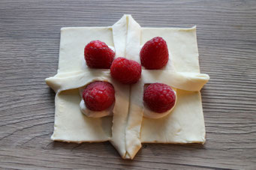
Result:
[[173,108],[176,94],[168,85],[153,83],[144,91],[143,100],[153,112],[162,113]]

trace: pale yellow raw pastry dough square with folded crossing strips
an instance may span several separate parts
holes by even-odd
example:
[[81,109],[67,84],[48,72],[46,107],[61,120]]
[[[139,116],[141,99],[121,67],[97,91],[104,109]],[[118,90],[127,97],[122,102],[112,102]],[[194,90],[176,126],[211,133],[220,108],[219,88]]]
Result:
[[[116,57],[140,62],[140,48],[152,37],[167,41],[170,60],[162,70],[144,70],[135,85],[111,79],[110,70],[89,69],[83,49],[101,40]],[[113,116],[89,118],[80,111],[79,88],[93,81],[112,83],[116,91]],[[209,80],[198,64],[196,28],[141,28],[124,15],[112,27],[62,28],[59,69],[46,79],[56,91],[56,116],[51,139],[64,142],[110,141],[124,159],[133,159],[142,142],[204,143],[205,127],[200,89]],[[164,118],[143,118],[143,87],[162,82],[176,89],[176,106]]]

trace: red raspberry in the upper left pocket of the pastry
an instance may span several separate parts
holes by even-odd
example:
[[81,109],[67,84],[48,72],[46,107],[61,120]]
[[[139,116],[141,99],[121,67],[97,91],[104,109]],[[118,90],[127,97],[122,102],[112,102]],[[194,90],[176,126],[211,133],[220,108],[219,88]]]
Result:
[[84,56],[88,67],[109,69],[115,57],[115,52],[106,43],[100,40],[92,40],[86,45]]

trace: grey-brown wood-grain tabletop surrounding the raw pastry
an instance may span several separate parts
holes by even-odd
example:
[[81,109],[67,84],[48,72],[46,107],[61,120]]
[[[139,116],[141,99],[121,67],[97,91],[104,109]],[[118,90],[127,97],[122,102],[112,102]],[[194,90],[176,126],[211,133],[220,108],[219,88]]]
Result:
[[[59,32],[113,25],[197,25],[205,145],[145,144],[122,160],[104,143],[52,142]],[[256,1],[0,1],[1,169],[256,169]]]

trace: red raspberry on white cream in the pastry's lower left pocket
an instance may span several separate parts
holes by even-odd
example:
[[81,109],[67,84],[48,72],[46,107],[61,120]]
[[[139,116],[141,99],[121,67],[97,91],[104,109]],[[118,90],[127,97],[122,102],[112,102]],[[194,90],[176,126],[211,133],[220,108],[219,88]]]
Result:
[[90,110],[105,110],[115,100],[115,89],[109,82],[92,82],[83,90],[83,100]]

